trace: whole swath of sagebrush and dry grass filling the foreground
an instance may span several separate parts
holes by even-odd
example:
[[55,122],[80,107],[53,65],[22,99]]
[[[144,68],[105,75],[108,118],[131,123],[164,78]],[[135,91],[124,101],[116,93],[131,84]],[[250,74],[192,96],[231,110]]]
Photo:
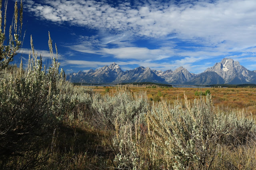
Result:
[[221,111],[209,93],[194,101],[184,95],[184,105],[179,98],[154,103],[125,87],[99,95],[65,80],[50,34],[49,68],[32,38],[31,47],[25,69],[22,62],[1,68],[1,169],[256,167],[250,113]]

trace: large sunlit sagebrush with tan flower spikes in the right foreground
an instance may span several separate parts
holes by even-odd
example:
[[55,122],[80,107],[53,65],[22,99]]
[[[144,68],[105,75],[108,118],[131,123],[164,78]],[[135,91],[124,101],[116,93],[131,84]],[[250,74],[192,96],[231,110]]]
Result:
[[211,169],[220,144],[234,146],[242,144],[241,138],[255,140],[254,120],[214,109],[210,95],[206,100],[195,99],[193,106],[185,96],[185,108],[179,101],[173,107],[158,103],[147,121],[152,140],[150,158],[154,163],[162,155],[168,169]]

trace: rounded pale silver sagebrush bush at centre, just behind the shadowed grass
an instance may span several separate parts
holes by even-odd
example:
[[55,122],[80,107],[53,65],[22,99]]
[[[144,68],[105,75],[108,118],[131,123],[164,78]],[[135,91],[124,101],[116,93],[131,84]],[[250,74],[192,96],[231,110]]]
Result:
[[93,96],[94,119],[99,126],[114,129],[116,120],[122,125],[127,120],[134,122],[136,116],[144,117],[147,113],[149,103],[146,93],[133,94],[122,87],[117,91],[113,95]]

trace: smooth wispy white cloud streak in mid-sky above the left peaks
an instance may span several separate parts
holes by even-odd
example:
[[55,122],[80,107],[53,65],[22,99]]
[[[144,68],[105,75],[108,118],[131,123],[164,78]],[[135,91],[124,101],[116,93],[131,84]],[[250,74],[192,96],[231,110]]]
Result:
[[[126,35],[108,35],[100,40],[98,37],[80,36],[75,45],[65,45],[74,51],[82,53],[92,53],[98,55],[113,55],[118,59],[137,59],[137,60],[160,60],[174,55],[172,47],[161,47],[159,49],[148,49],[147,47],[135,47],[129,42],[121,42]],[[116,48],[107,48],[106,44],[118,45]]]

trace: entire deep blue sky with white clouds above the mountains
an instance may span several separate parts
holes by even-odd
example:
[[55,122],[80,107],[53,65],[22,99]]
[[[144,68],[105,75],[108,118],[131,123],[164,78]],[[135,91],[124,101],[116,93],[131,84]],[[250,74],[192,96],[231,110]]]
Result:
[[[66,73],[116,62],[201,73],[224,57],[256,70],[256,0],[23,0],[26,62],[30,35],[49,63],[48,31]],[[13,2],[9,3],[11,12]]]

